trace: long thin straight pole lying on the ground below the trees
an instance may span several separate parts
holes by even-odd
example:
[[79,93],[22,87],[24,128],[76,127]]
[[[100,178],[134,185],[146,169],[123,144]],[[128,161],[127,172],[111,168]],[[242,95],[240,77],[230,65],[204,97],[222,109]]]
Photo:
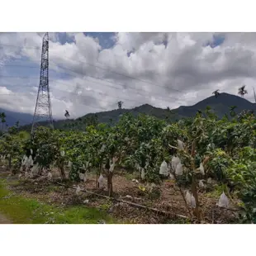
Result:
[[[69,188],[72,188],[74,190],[76,189],[75,187],[64,185],[62,183],[57,183],[57,184],[62,186],[62,187],[69,187]],[[148,207],[148,206],[143,206],[143,205],[137,204],[135,202],[126,201],[126,200],[118,199],[118,198],[115,198],[115,197],[107,197],[107,196],[98,194],[96,192],[91,192],[91,191],[83,190],[83,189],[81,189],[81,192],[89,193],[89,194],[95,195],[97,197],[104,197],[104,198],[107,198],[108,200],[112,200],[112,201],[121,201],[123,203],[129,204],[130,206],[135,206],[135,207],[146,209],[146,210],[149,210],[149,211],[154,211],[154,212],[156,212],[158,214],[161,214],[161,215],[164,215],[164,216],[172,216],[173,215],[173,216],[177,216],[179,218],[189,219],[187,216],[183,216],[183,215],[179,215],[179,214],[171,214],[168,211],[160,211],[159,209],[156,209],[156,208],[152,208],[152,207]]]

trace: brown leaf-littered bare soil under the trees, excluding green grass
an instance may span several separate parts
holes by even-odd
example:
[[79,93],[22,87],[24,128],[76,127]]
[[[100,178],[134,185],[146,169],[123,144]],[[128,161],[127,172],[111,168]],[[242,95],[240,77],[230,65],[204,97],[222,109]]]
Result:
[[[81,189],[107,196],[107,181],[105,180],[105,187],[103,189],[95,188],[95,181],[96,175],[90,174],[86,183],[68,182],[66,184],[73,187],[79,185]],[[146,187],[145,192],[139,188],[139,185]],[[120,220],[121,223],[186,223],[185,219],[175,216],[182,215],[189,217],[182,194],[173,181],[166,180],[161,185],[156,186],[152,192],[149,192],[148,184],[132,181],[132,178],[127,178],[126,174],[122,172],[116,173],[113,177],[115,198],[154,207],[160,211],[168,211],[172,217],[159,215],[154,211],[137,208],[126,203],[108,201],[106,198],[97,197],[88,193],[76,195],[75,189],[61,187],[56,181],[50,182],[42,177],[36,179],[25,179],[21,177],[20,183],[12,185],[9,188],[14,192],[18,192],[23,197],[35,197],[40,201],[46,201],[59,206],[83,205],[97,207],[102,209],[102,211],[107,211],[116,220]],[[199,200],[201,202],[203,223],[220,224],[235,222],[236,211],[230,211],[229,209],[216,206],[218,198],[209,197],[209,193],[205,190],[199,192]]]

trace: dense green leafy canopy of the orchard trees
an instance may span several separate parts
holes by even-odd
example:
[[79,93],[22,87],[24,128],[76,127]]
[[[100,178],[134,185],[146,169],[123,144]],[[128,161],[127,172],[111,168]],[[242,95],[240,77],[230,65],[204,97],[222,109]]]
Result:
[[[178,183],[187,186],[192,183],[192,170],[208,157],[205,178],[214,178],[220,185],[227,180],[235,183],[237,195],[244,203],[242,220],[256,222],[256,121],[251,114],[238,119],[234,108],[230,111],[233,118],[224,116],[221,120],[207,107],[193,119],[172,124],[152,116],[124,114],[115,126],[94,122],[83,132],[40,128],[33,140],[38,149],[36,161],[43,166],[58,163],[59,159],[64,164],[71,161],[70,178],[78,180],[79,172],[89,168],[100,172],[115,156],[117,165],[138,172],[144,168],[145,182],[160,183],[160,164],[164,160],[170,163],[173,155],[178,155],[186,170]],[[184,142],[186,154],[170,147],[176,146],[177,140]],[[16,133],[5,136],[1,142],[1,154],[11,153],[17,159],[24,154],[22,145],[26,140]],[[196,145],[194,152],[192,145]]]

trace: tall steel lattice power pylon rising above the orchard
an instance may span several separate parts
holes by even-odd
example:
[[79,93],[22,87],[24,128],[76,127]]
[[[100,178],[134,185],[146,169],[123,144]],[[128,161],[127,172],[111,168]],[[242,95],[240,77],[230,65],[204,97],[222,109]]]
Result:
[[36,98],[36,107],[33,117],[31,134],[33,134],[39,121],[48,121],[54,128],[49,90],[49,36],[45,33],[43,37],[41,65],[40,65],[40,83]]

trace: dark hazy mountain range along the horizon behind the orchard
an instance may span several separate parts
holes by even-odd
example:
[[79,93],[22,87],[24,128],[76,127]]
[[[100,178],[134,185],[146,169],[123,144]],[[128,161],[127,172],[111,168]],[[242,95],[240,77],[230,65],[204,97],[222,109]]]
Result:
[[[90,113],[85,116],[81,116],[76,120],[59,120],[55,121],[55,128],[72,127],[73,129],[82,130],[86,126],[86,123],[92,122],[95,115],[97,115],[97,121],[101,123],[111,123],[115,124],[121,115],[130,112],[133,116],[138,116],[140,113],[144,113],[150,116],[155,116],[160,119],[168,119],[170,121],[179,120],[181,118],[192,117],[197,114],[198,110],[205,111],[206,107],[211,107],[212,111],[215,111],[216,115],[220,118],[225,116],[225,114],[230,114],[230,107],[236,106],[235,111],[237,113],[243,110],[255,110],[256,104],[247,101],[243,97],[236,95],[231,95],[228,93],[220,93],[219,97],[211,96],[197,102],[193,106],[181,106],[176,109],[169,111],[168,109],[162,109],[159,107],[153,107],[149,104],[141,105],[140,107],[135,107],[132,109],[116,109],[112,111],[102,111],[97,113]],[[4,111],[0,109],[0,112]],[[20,120],[21,124],[30,123],[32,121],[32,116],[30,114],[15,113],[11,111],[5,111],[7,114],[7,123],[11,126],[17,120]],[[89,121],[88,121],[89,120]],[[23,121],[23,122],[22,122]],[[42,125],[45,123],[42,122]],[[23,129],[30,130],[31,125],[24,126]]]

